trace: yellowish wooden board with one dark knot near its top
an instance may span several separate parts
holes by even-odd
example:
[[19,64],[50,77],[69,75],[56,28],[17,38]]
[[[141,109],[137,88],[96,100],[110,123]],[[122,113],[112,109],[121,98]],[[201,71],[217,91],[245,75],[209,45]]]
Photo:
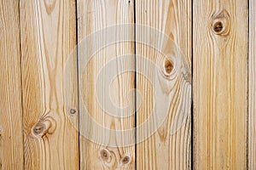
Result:
[[193,165],[246,169],[247,1],[193,7]]

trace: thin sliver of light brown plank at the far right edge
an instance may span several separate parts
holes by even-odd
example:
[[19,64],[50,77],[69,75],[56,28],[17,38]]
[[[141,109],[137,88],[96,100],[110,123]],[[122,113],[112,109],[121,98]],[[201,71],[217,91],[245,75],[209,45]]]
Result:
[[256,3],[249,1],[248,168],[256,169]]

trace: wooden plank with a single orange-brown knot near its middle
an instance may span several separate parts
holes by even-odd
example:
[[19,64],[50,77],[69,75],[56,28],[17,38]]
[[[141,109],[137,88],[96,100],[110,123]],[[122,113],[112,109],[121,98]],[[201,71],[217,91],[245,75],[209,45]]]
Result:
[[190,4],[136,1],[137,169],[190,169]]

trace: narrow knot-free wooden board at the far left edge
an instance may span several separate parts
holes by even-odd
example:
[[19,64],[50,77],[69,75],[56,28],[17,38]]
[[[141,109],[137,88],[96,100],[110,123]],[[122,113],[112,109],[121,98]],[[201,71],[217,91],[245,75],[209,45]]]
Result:
[[0,169],[23,168],[19,1],[0,2]]

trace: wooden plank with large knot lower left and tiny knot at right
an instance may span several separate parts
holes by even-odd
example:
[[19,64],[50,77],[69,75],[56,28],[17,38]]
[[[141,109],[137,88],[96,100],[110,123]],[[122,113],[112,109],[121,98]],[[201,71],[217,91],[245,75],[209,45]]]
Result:
[[25,168],[78,169],[75,0],[20,0],[20,20]]

